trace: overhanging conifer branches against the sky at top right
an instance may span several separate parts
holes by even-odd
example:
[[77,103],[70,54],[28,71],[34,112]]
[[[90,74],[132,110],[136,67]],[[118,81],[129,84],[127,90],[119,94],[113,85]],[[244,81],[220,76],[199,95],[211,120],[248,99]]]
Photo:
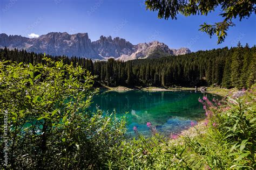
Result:
[[225,40],[227,30],[235,24],[232,22],[234,18],[239,18],[240,21],[250,17],[256,13],[255,1],[226,1],[226,0],[211,0],[211,1],[166,1],[166,0],[146,0],[146,8],[152,11],[158,11],[158,18],[177,19],[177,15],[181,13],[184,16],[205,15],[219,8],[220,16],[223,17],[221,22],[214,24],[204,23],[200,25],[200,30],[206,32],[212,37],[214,34],[218,37],[218,44]]

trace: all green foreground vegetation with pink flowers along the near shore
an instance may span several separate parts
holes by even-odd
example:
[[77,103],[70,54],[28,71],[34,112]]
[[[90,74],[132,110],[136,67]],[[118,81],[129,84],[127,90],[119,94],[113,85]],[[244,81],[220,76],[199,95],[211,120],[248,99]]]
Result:
[[[207,118],[184,134],[125,138],[125,117],[90,112],[93,79],[80,66],[0,62],[1,113],[8,115],[8,168],[255,169],[255,85],[220,103],[199,99]],[[1,114],[1,120],[4,114]],[[5,147],[1,139],[1,161]],[[1,164],[2,167],[5,167]]]

